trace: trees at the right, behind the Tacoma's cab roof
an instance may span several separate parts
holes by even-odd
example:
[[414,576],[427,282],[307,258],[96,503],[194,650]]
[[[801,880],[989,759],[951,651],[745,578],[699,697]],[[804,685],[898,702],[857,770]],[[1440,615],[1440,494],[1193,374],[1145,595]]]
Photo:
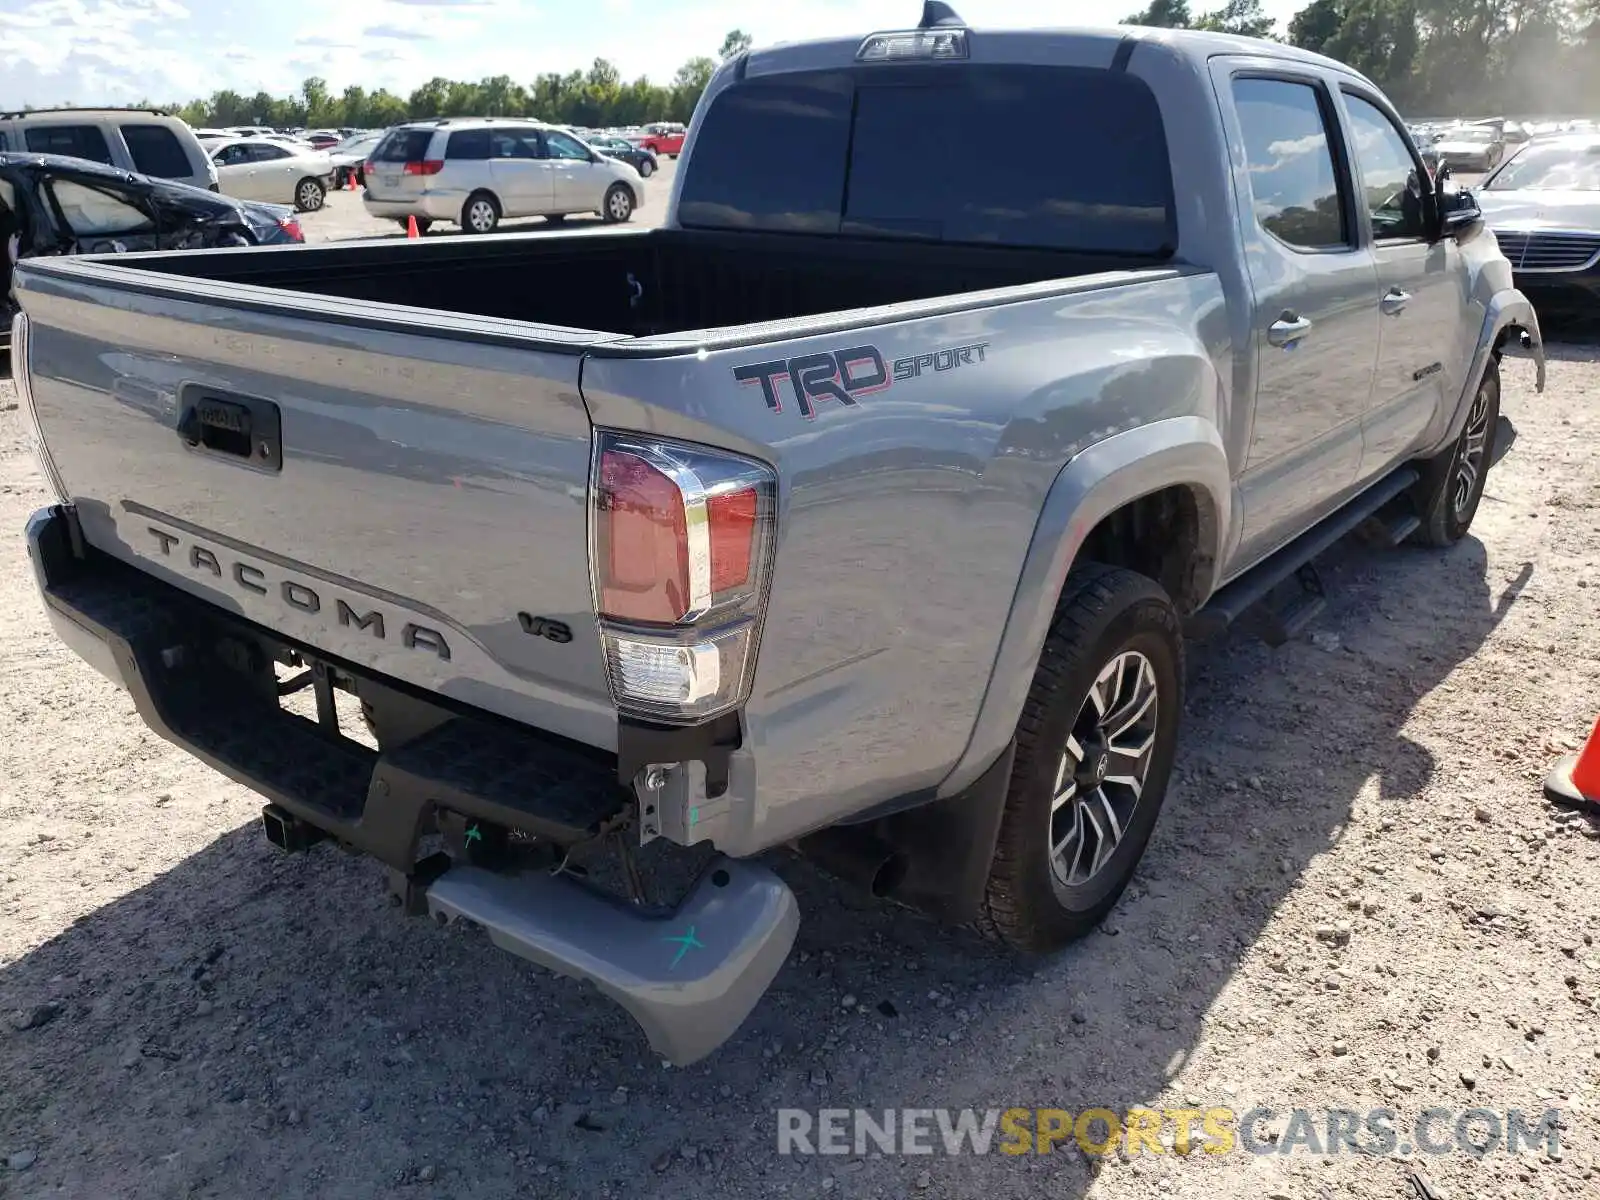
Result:
[[[1126,24],[1274,37],[1261,0]],[[1414,117],[1600,115],[1600,0],[1310,0],[1283,40],[1360,70]]]

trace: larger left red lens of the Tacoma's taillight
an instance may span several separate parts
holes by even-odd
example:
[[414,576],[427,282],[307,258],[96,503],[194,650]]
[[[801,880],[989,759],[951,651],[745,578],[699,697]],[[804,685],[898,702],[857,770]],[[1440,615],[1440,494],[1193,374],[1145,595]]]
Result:
[[664,472],[621,450],[600,456],[600,614],[672,624],[688,613],[683,494]]

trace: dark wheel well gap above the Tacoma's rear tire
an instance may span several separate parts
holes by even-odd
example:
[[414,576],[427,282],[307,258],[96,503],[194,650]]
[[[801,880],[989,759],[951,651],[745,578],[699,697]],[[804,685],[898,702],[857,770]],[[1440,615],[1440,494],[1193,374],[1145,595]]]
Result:
[[1178,611],[1192,613],[1211,589],[1214,528],[1210,498],[1179,483],[1139,496],[1102,517],[1083,539],[1078,560],[1149,576],[1166,590]]

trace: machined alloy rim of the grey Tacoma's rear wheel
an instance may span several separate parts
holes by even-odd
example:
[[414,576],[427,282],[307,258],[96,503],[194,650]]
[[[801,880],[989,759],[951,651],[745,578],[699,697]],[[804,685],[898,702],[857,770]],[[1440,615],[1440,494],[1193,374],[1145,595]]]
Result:
[[1117,654],[1090,686],[1067,734],[1050,805],[1050,867],[1069,886],[1094,878],[1122,843],[1155,749],[1155,667]]

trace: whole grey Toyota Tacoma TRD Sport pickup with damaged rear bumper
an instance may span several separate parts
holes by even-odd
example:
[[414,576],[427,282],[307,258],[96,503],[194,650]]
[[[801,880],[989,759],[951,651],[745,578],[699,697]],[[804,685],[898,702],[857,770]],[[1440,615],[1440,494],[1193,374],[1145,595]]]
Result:
[[1186,635],[1293,635],[1358,525],[1459,539],[1539,347],[1352,70],[939,3],[726,62],[659,229],[18,280],[59,637],[274,843],[675,1061],[790,949],[774,846],[1024,950],[1091,930]]

